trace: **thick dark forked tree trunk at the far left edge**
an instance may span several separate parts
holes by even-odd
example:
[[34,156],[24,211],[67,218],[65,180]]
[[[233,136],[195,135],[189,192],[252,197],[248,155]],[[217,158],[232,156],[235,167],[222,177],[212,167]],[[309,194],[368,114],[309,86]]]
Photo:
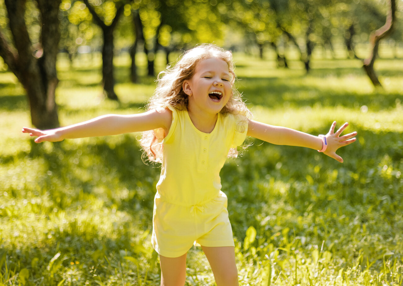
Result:
[[55,90],[60,2],[4,0],[10,36],[0,31],[0,56],[27,91],[32,124],[41,129],[59,126]]

